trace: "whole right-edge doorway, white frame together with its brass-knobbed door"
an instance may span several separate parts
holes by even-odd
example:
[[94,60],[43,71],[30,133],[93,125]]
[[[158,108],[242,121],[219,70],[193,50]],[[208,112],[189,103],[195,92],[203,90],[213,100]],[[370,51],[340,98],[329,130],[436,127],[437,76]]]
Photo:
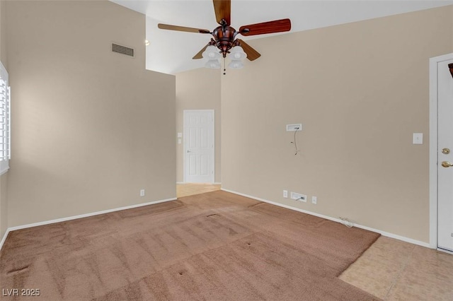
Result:
[[453,252],[453,54],[430,59],[430,245]]

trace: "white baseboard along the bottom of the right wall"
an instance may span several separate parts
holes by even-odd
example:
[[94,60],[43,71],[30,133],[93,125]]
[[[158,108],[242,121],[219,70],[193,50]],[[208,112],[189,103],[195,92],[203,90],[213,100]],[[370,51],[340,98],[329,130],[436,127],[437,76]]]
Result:
[[[256,199],[257,201],[263,201],[265,203],[271,203],[273,205],[280,206],[280,207],[287,208],[287,209],[291,209],[291,210],[294,210],[294,211],[299,211],[299,212],[302,212],[302,213],[310,214],[311,216],[317,216],[319,218],[325,218],[326,220],[333,220],[334,222],[337,222],[337,223],[343,223],[343,220],[340,220],[339,218],[332,218],[330,216],[324,216],[324,215],[319,214],[319,213],[306,211],[304,209],[288,206],[288,205],[285,205],[285,204],[282,204],[282,203],[277,203],[277,202],[274,202],[274,201],[268,201],[266,199],[261,199],[261,198],[258,198],[256,196],[250,196],[248,194],[241,194],[239,192],[232,191],[232,190],[229,190],[229,189],[221,188],[220,190],[226,191],[226,192],[230,192],[231,194],[238,194],[239,196],[246,196],[247,198]],[[385,232],[385,231],[382,231],[382,230],[379,230],[379,229],[369,228],[369,227],[364,226],[364,225],[354,224],[354,227],[357,227],[357,228],[360,228],[360,229],[364,229],[364,230],[369,230],[369,231],[372,231],[372,232],[377,232],[377,233],[379,233],[379,234],[381,234],[383,236],[394,238],[396,240],[401,240],[403,242],[409,242],[411,244],[418,244],[419,246],[422,246],[422,247],[428,247],[428,248],[430,247],[430,244],[428,244],[427,242],[420,242],[420,240],[413,240],[412,238],[403,237],[401,235],[396,235],[396,234]]]

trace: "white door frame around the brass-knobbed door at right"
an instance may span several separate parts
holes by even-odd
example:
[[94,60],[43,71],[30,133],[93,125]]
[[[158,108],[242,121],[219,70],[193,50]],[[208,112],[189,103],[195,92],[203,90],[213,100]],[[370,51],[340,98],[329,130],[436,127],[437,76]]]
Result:
[[453,53],[430,58],[430,247],[432,249],[437,249],[437,63],[450,59],[453,59]]

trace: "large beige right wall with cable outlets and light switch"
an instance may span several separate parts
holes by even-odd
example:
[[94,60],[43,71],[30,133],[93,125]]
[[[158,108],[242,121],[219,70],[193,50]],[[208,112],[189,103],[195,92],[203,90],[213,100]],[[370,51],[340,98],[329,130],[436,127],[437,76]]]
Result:
[[429,242],[428,66],[452,9],[250,41],[262,57],[222,76],[222,187]]

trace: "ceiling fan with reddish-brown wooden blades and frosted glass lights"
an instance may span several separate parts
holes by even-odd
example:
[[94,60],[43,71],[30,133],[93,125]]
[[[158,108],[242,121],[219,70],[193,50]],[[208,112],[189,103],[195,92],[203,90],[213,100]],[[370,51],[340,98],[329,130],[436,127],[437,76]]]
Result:
[[[229,65],[231,68],[241,68],[240,59],[247,57],[250,61],[258,59],[261,56],[255,49],[240,39],[236,35],[264,35],[266,33],[281,33],[291,30],[291,20],[273,20],[264,23],[243,25],[236,31],[230,26],[231,24],[231,0],[213,0],[214,12],[219,26],[212,30],[189,28],[177,25],[168,25],[159,23],[157,26],[166,30],[185,31],[188,33],[209,33],[212,35],[210,42],[203,47],[200,52],[195,54],[193,59],[202,59],[207,57],[208,68],[220,68],[218,58],[220,54],[226,58],[226,54],[232,54],[232,61]],[[231,51],[230,51],[231,50]]]

